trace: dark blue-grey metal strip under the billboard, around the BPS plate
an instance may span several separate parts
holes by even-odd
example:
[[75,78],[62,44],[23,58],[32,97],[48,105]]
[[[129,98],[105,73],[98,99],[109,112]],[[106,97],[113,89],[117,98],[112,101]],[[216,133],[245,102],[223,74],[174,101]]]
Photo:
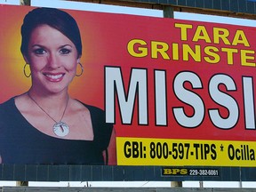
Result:
[[[189,167],[186,167],[189,168]],[[190,167],[196,168],[196,167]],[[204,169],[204,167],[200,167]],[[161,166],[17,165],[0,164],[0,180],[128,181],[128,180],[256,180],[256,168],[214,167],[220,176],[162,176]]]

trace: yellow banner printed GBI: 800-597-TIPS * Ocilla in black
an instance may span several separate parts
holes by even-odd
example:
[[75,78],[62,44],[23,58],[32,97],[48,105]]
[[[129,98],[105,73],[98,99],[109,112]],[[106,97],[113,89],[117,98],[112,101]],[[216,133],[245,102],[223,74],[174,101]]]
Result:
[[118,165],[256,167],[256,142],[116,138]]

